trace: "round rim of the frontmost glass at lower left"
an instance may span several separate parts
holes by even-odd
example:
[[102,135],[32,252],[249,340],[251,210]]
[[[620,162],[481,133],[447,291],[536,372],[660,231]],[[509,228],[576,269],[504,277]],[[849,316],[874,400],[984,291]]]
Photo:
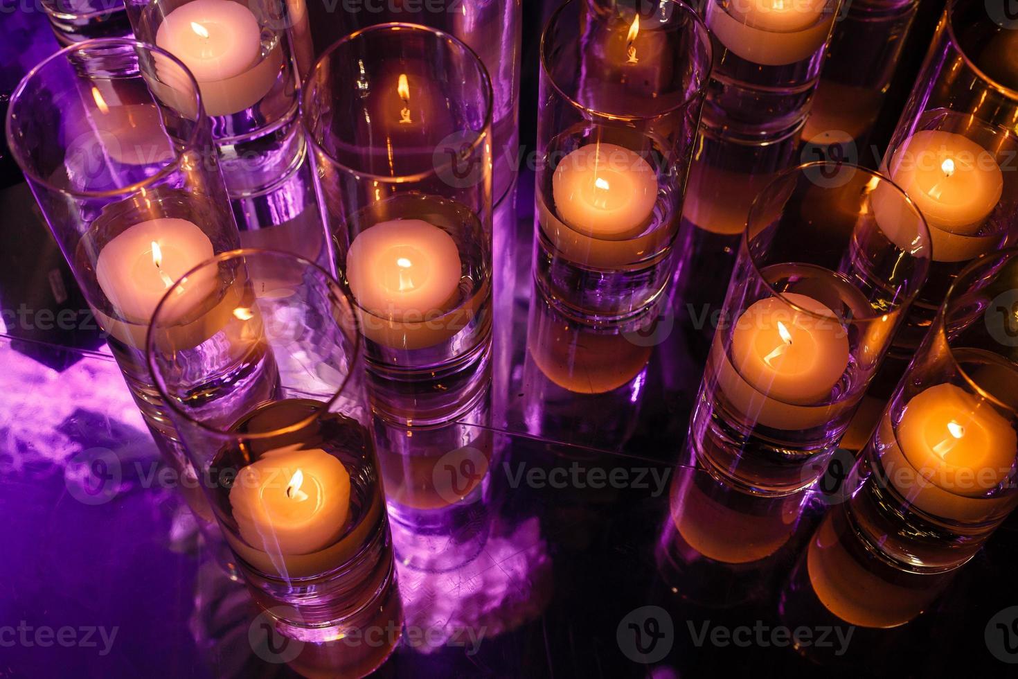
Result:
[[328,400],[321,401],[322,407],[318,409],[314,414],[303,417],[297,420],[296,422],[293,422],[292,425],[287,425],[286,427],[277,428],[272,432],[246,433],[241,436],[229,430],[222,430],[218,427],[213,427],[199,419],[195,419],[188,412],[185,412],[182,408],[180,408],[176,404],[174,399],[171,398],[170,395],[167,393],[167,390],[164,386],[164,381],[160,379],[159,377],[160,373],[157,372],[156,370],[155,350],[154,350],[155,349],[154,328],[156,327],[156,325],[154,322],[159,317],[159,314],[163,309],[163,305],[165,304],[166,300],[169,299],[170,293],[173,292],[180,284],[180,282],[183,281],[185,278],[189,278],[190,276],[196,274],[199,271],[207,267],[212,267],[212,266],[218,267],[220,264],[224,262],[229,262],[231,260],[237,260],[237,259],[242,260],[243,258],[252,256],[253,257],[269,256],[273,258],[283,258],[286,260],[290,260],[291,262],[297,263],[304,269],[309,269],[315,271],[328,283],[330,289],[332,289],[334,292],[339,293],[338,297],[343,299],[344,302],[346,303],[346,306],[350,312],[350,321],[353,324],[353,360],[351,361],[351,366],[354,367],[355,370],[359,370],[360,367],[360,352],[362,347],[362,339],[360,336],[360,325],[357,322],[357,315],[354,312],[352,298],[350,294],[343,289],[342,284],[340,284],[340,282],[329,271],[315,264],[314,262],[300,257],[299,254],[294,254],[293,252],[286,252],[283,250],[269,249],[266,247],[238,247],[236,249],[220,252],[219,254],[216,254],[211,259],[205,260],[204,262],[195,265],[193,268],[187,271],[183,276],[177,279],[177,281],[173,285],[167,288],[166,294],[164,294],[162,298],[160,298],[159,303],[156,304],[156,308],[152,313],[152,319],[150,320],[149,323],[149,329],[146,331],[145,335],[145,362],[146,366],[149,369],[149,372],[152,375],[152,382],[156,387],[156,391],[159,393],[159,396],[163,399],[163,401],[174,413],[176,413],[180,417],[183,417],[188,422],[194,425],[201,430],[213,434],[216,437],[219,437],[224,440],[243,438],[249,441],[265,441],[281,435],[299,432],[305,427],[310,426],[313,422],[318,420],[324,413],[329,411],[329,408],[331,408],[336,403],[336,401],[339,400],[339,397],[346,392],[346,388],[349,385],[350,379],[355,372],[355,370],[351,370],[347,372],[346,375],[343,376],[343,383],[339,385],[339,388],[335,391],[335,393],[332,394],[332,396],[329,397]]

